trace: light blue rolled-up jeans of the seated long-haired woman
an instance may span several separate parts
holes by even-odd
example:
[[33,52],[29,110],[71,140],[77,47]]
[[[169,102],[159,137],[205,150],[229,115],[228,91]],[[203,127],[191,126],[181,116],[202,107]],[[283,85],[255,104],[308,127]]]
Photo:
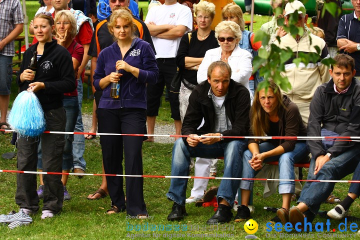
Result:
[[[259,144],[260,153],[274,149],[274,145],[270,142],[263,142]],[[294,179],[294,163],[303,160],[308,155],[306,143],[296,142],[292,151],[284,152],[281,155],[271,156],[264,159],[264,162],[278,161],[279,179]],[[250,150],[246,150],[242,156],[242,177],[254,178],[258,171],[252,169],[248,162],[252,158]],[[240,188],[245,190],[252,190],[254,180],[241,180]],[[279,193],[294,193],[295,182],[293,181],[280,181]]]

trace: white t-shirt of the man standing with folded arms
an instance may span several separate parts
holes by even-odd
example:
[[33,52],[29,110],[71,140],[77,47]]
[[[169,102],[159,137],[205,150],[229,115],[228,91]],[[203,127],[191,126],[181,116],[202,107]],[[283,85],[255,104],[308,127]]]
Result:
[[[151,7],[147,12],[145,23],[149,23],[150,21],[154,22],[156,25],[184,25],[187,27],[187,31],[192,30],[192,15],[190,8],[178,2],[172,5],[162,4],[158,7]],[[172,40],[162,39],[156,36],[151,36],[151,38],[155,46],[156,58],[176,56],[181,37]]]

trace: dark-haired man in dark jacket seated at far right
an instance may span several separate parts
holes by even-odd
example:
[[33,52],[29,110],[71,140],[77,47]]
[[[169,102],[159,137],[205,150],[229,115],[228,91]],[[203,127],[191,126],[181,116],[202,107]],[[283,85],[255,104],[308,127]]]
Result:
[[[360,83],[354,78],[354,59],[338,54],[334,60],[336,63],[329,70],[332,78],[317,87],[311,100],[308,136],[360,135]],[[312,155],[308,180],[339,180],[352,173],[360,161],[358,142],[325,139],[307,143]],[[309,229],[305,222],[313,220],[334,185],[334,182],[305,183],[298,205],[289,211],[289,221],[295,230]]]

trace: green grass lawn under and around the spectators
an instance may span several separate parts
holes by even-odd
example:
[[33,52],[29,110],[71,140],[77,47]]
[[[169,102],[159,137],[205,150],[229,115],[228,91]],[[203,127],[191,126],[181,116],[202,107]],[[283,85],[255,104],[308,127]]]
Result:
[[[140,7],[147,2],[140,2]],[[27,14],[29,19],[32,19],[34,12],[38,8],[37,1],[26,1]],[[145,9],[147,9],[145,7]],[[145,16],[145,9],[143,13]],[[32,14],[32,15],[31,15]],[[249,15],[245,15],[245,20],[249,20]],[[259,26],[268,21],[268,16],[255,16],[254,30],[258,29]],[[84,84],[86,85],[86,84]],[[17,91],[16,85],[12,84],[11,102],[15,98]],[[86,92],[86,88],[84,89]],[[92,109],[92,102],[84,99],[83,111],[90,112]],[[160,110],[160,116],[158,119],[162,122],[171,122],[169,119],[169,106],[168,102],[162,101],[162,108]],[[0,154],[13,150],[13,146],[10,145],[10,134],[0,134]],[[95,140],[85,141],[85,154],[84,158],[87,162],[88,173],[101,173],[101,147],[98,138]],[[143,154],[143,169],[145,175],[170,175],[171,170],[171,149],[172,144],[161,144],[161,143],[148,143],[145,142],[142,148]],[[221,176],[221,169],[223,168],[223,162],[220,161],[218,164],[218,176]],[[16,159],[3,159],[0,158],[0,169],[16,169]],[[193,170],[190,172],[194,174]],[[304,170],[304,176],[307,175]],[[351,175],[345,179],[351,179]],[[0,173],[0,214],[7,214],[10,210],[18,209],[15,204],[14,195],[16,190],[16,175],[14,173]],[[101,178],[99,176],[85,176],[79,179],[75,176],[69,176],[67,183],[67,189],[71,194],[71,200],[65,201],[62,212],[51,218],[51,219],[40,219],[40,213],[33,216],[33,222],[29,226],[22,226],[9,230],[6,226],[0,225],[1,239],[128,239],[134,238],[134,235],[130,234],[149,234],[146,236],[140,236],[141,238],[150,239],[199,239],[199,236],[188,236],[187,234],[203,234],[203,233],[217,233],[217,234],[229,234],[224,237],[216,237],[219,239],[243,239],[247,233],[244,231],[243,222],[235,223],[230,222],[228,224],[220,225],[220,229],[223,227],[230,230],[213,230],[205,227],[205,221],[213,214],[213,210],[210,207],[195,207],[194,204],[186,204],[186,210],[188,216],[180,222],[168,222],[166,220],[167,214],[170,212],[172,202],[166,199],[165,193],[168,190],[170,179],[165,178],[144,178],[144,197],[147,205],[148,212],[153,219],[139,220],[139,219],[126,219],[125,213],[106,215],[104,212],[110,208],[110,198],[105,197],[100,200],[87,200],[86,196],[93,193],[99,186]],[[218,185],[219,180],[209,180],[209,186]],[[189,196],[190,189],[192,187],[193,180],[188,181],[188,188],[186,196]],[[347,183],[336,184],[334,194],[343,198],[348,189]],[[131,190],[131,189],[127,189]],[[266,226],[265,224],[275,215],[275,213],[263,210],[264,206],[278,207],[281,203],[281,197],[279,194],[273,194],[268,198],[262,197],[263,186],[259,181],[255,182],[254,187],[254,207],[255,211],[252,214],[254,220],[258,223],[258,231],[255,235],[259,238],[266,237]],[[295,204],[295,202],[292,202]],[[42,206],[42,201],[40,201]],[[321,210],[329,210],[334,205],[322,204]],[[352,206],[349,214],[360,216],[359,201],[356,200]],[[347,229],[351,222],[357,219],[347,220]],[[324,218],[319,216],[315,218],[314,222],[324,222]],[[339,233],[338,224],[341,221],[331,220],[330,229],[335,228],[335,233]],[[360,224],[360,221],[356,221]],[[170,225],[169,225],[170,224]],[[171,225],[172,224],[172,225]],[[177,225],[177,224],[180,224]],[[163,225],[168,230],[143,230],[144,227],[161,227]],[[187,230],[181,230],[187,225]],[[142,230],[139,229],[141,226]],[[191,227],[200,227],[197,230],[190,230]],[[132,227],[132,230],[130,230]],[[170,229],[171,227],[171,229]],[[180,230],[175,230],[179,228]],[[325,226],[326,227],[326,226]],[[357,227],[358,228],[358,227]],[[297,233],[296,231],[282,233]],[[156,235],[155,235],[156,233]],[[173,234],[185,234],[182,237],[174,237]],[[274,230],[271,233],[278,233]],[[350,233],[349,230],[347,233]],[[129,235],[128,235],[129,234]],[[158,235],[157,235],[158,234]],[[167,234],[167,235],[166,235]],[[138,236],[137,236],[138,237]],[[318,236],[316,233],[314,237],[319,239],[325,239],[322,235]],[[213,238],[213,237],[211,237]],[[268,237],[268,239],[279,238]],[[290,239],[290,237],[281,237],[284,239]],[[295,239],[299,237],[294,237]],[[294,239],[291,238],[291,239]],[[313,237],[312,237],[313,238]],[[352,238],[352,237],[351,237]],[[360,238],[360,237],[355,237]],[[311,239],[311,238],[304,238]]]

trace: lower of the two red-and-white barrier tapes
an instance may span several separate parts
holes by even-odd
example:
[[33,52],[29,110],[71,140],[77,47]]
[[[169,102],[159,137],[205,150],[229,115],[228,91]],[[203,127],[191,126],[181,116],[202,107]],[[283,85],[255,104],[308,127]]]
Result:
[[213,177],[213,176],[161,176],[161,175],[126,175],[126,174],[97,174],[97,173],[72,173],[72,172],[49,172],[49,171],[19,171],[0,169],[0,172],[51,174],[51,175],[86,175],[86,176],[127,176],[149,178],[200,178],[200,179],[227,179],[227,180],[258,180],[258,181],[314,181],[314,182],[346,182],[360,183],[360,180],[299,180],[299,179],[276,179],[276,178],[242,178],[242,177]]

